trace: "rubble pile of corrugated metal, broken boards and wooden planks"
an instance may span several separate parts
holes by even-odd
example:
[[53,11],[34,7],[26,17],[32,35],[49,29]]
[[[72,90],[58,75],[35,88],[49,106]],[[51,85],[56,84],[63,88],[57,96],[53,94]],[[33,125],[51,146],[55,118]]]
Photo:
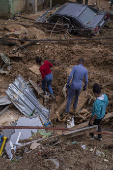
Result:
[[[0,115],[3,115],[3,113],[5,113],[13,104],[25,116],[20,116],[19,119],[16,118],[16,121],[11,120],[11,122],[14,122],[11,124],[11,126],[1,126],[1,129],[6,129],[1,132],[1,135],[8,138],[5,150],[10,159],[13,159],[14,156],[16,156],[16,159],[18,159],[20,150],[22,151],[23,147],[25,148],[24,153],[26,153],[29,147],[27,147],[26,151],[25,146],[32,144],[30,149],[35,149],[40,147],[40,142],[45,141],[47,143],[54,142],[58,144],[61,141],[64,142],[65,139],[68,140],[69,138],[84,135],[85,133],[90,133],[97,130],[97,126],[87,127],[88,120],[90,118],[90,111],[87,109],[82,109],[85,103],[89,101],[88,96],[86,96],[84,92],[80,94],[78,108],[76,113],[74,113],[74,121],[71,114],[63,114],[67,101],[66,98],[62,105],[58,108],[56,107],[55,102],[52,103],[49,111],[42,104],[40,104],[34,93],[34,90],[37,92],[38,98],[43,98],[43,105],[46,105],[49,102],[49,98],[47,98],[46,95],[43,95],[42,89],[31,80],[29,82],[25,82],[20,75],[12,84],[9,85],[8,89],[6,90],[7,95],[0,98],[0,105],[5,106],[0,112]],[[91,98],[89,102],[91,102]],[[105,116],[103,121],[109,121],[111,118],[113,118],[113,114],[109,113]],[[53,128],[52,130],[56,130],[56,133],[47,132],[45,129],[49,129],[51,124],[54,126],[55,121],[63,123],[67,122],[67,129]],[[76,124],[79,125],[77,126]],[[45,128],[43,129],[43,127]],[[62,131],[59,132],[59,130]],[[65,132],[63,132],[63,130],[65,130]],[[51,137],[48,138],[49,136]]]

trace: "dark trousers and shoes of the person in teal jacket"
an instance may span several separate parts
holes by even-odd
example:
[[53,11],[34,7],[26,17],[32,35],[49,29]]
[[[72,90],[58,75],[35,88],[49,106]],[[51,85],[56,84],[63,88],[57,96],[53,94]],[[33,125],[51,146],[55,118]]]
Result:
[[[92,118],[91,118],[92,119]],[[90,120],[91,120],[90,119]],[[103,118],[102,118],[103,119]],[[102,119],[95,119],[94,122],[93,122],[93,125],[98,125],[98,131],[97,132],[101,132],[101,126],[100,126],[100,122]],[[89,121],[89,126],[92,126],[90,124],[90,121]],[[93,138],[94,137],[94,133],[90,133],[91,137]],[[101,138],[102,135],[101,134],[98,134],[98,138]]]

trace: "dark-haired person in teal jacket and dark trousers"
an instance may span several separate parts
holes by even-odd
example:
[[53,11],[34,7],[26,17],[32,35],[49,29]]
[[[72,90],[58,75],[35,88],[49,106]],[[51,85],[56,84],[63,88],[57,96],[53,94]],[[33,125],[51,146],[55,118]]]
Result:
[[[101,87],[99,84],[95,83],[93,85],[93,93],[96,97],[96,100],[93,103],[92,108],[92,117],[89,121],[89,126],[98,125],[98,132],[101,132],[100,122],[105,116],[106,107],[108,105],[108,97],[106,94],[101,94]],[[94,134],[90,134],[92,139]],[[102,140],[101,134],[98,134],[98,139]]]

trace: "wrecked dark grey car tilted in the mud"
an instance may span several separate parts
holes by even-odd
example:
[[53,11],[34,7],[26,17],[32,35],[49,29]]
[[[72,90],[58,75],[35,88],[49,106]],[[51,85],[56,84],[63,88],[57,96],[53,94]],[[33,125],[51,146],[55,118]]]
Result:
[[46,11],[36,23],[46,23],[53,27],[63,25],[70,33],[96,35],[109,21],[109,14],[88,5],[66,3],[48,16]]

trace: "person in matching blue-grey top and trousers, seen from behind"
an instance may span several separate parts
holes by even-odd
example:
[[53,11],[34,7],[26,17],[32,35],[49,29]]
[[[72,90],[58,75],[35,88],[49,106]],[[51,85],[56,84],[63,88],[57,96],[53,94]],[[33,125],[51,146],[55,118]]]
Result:
[[[82,88],[83,78],[85,78],[85,85],[83,87],[83,90],[85,91],[88,83],[88,71],[86,68],[84,68],[84,60],[79,59],[78,65],[75,65],[71,71],[71,74],[69,75],[69,78],[67,80],[67,89],[68,89],[68,97],[67,97],[67,105],[66,105],[66,113],[69,113],[70,104],[75,96],[73,108],[74,110],[77,108],[78,104],[78,97]],[[72,81],[71,81],[72,80]],[[70,84],[71,81],[71,84]]]

